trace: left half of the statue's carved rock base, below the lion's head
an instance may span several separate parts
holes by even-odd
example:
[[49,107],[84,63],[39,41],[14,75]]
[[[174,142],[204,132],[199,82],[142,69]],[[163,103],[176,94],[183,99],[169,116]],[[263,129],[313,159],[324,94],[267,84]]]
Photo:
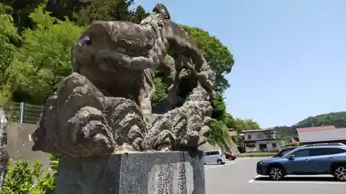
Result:
[[138,106],[121,97],[104,97],[83,75],[72,73],[52,95],[33,134],[34,151],[54,155],[111,154],[125,143],[144,150],[144,122]]

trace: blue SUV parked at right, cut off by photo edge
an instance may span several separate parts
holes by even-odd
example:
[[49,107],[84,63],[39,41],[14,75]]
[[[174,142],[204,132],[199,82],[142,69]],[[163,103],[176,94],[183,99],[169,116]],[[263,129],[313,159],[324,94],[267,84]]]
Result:
[[286,175],[334,175],[336,180],[346,181],[346,145],[300,146],[282,157],[257,162],[257,173],[271,180],[282,180]]

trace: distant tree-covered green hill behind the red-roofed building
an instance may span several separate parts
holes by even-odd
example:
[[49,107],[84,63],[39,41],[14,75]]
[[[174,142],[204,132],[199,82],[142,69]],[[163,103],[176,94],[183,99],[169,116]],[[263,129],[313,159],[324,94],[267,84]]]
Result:
[[[334,125],[336,128],[346,127],[346,111],[307,117],[295,124],[297,128],[327,125]],[[286,142],[289,142],[289,139],[295,136],[295,128],[292,126],[275,126],[274,128],[277,130],[277,135],[282,136]]]

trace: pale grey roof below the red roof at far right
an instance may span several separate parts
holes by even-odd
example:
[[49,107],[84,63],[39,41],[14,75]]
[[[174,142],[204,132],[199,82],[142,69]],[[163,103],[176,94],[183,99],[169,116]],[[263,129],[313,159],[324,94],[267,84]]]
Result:
[[346,139],[346,128],[298,132],[299,142],[327,142]]

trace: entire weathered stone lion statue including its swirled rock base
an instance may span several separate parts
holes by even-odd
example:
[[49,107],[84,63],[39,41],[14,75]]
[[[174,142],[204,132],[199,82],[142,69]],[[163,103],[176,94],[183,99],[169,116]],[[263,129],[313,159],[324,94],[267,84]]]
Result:
[[[74,72],[46,102],[33,151],[82,157],[206,142],[215,72],[163,4],[140,24],[91,23],[71,55]],[[156,70],[169,87],[152,110]]]

